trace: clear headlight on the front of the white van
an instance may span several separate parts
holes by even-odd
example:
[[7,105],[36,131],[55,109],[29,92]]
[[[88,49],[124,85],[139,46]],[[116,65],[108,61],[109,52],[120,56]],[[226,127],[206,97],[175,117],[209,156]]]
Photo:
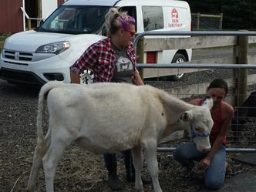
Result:
[[55,53],[58,55],[61,52],[64,52],[66,49],[69,49],[70,43],[67,41],[64,42],[52,42],[49,44],[45,44],[42,46],[39,46],[38,49],[36,49],[35,52],[40,53]]

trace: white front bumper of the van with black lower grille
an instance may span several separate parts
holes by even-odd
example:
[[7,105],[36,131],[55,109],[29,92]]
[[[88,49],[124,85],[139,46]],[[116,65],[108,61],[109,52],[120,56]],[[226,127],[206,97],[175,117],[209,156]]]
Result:
[[51,80],[70,83],[70,63],[53,56],[37,62],[21,62],[0,58],[0,79],[12,83],[43,85]]

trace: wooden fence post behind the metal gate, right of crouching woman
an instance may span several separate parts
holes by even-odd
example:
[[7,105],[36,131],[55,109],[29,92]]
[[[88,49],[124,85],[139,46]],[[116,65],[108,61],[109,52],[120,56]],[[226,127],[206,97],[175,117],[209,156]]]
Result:
[[[248,36],[237,36],[237,64],[248,64]],[[248,69],[236,70],[236,106],[247,99]]]

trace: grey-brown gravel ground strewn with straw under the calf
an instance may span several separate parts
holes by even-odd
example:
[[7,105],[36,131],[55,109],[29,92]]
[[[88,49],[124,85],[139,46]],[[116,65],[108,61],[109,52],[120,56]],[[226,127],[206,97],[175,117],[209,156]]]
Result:
[[[180,82],[160,81],[158,83],[147,81],[147,84],[158,86],[161,89],[170,89],[176,86],[210,82],[217,77],[231,76],[231,70],[219,70],[217,75],[214,70],[187,75]],[[221,75],[220,75],[221,74]],[[199,78],[200,77],[200,78]],[[256,87],[249,86],[248,90]],[[0,79],[0,192],[26,191],[25,187],[29,179],[29,171],[32,166],[33,150],[36,143],[36,109],[39,89],[28,86],[14,86]],[[46,127],[47,120],[43,120]],[[244,133],[254,133],[254,120],[248,121],[248,130]],[[244,136],[248,136],[245,135]],[[244,137],[244,143],[256,148],[256,141],[250,142]],[[255,137],[254,137],[255,138]],[[230,133],[232,140],[232,133]],[[175,147],[182,140],[174,140],[162,146]],[[231,146],[232,147],[232,144]],[[256,173],[256,167],[248,163],[234,160],[234,153],[227,154],[227,160],[234,166],[234,173]],[[197,191],[203,187],[202,173],[194,169],[189,179],[179,177],[179,164],[173,160],[172,153],[158,153],[159,180],[163,191]],[[118,171],[123,180],[123,191],[135,191],[133,184],[125,181],[125,169],[121,155],[118,155]],[[143,174],[147,174],[145,167]],[[64,153],[57,168],[55,187],[56,191],[111,191],[106,181],[106,168],[103,157],[87,153],[76,146],[69,147]],[[145,191],[153,191],[151,185],[144,186]],[[37,191],[45,191],[44,175],[39,172]]]

